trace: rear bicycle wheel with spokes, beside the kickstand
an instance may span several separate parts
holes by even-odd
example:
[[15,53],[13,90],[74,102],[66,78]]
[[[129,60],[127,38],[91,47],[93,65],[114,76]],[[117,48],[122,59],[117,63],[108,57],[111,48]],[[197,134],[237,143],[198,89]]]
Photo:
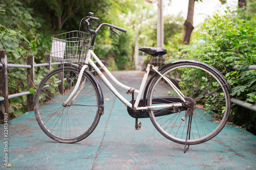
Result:
[[[206,66],[190,62],[170,65],[161,74],[172,81],[189,102],[193,101],[194,111],[190,115],[189,131],[189,117],[181,119],[185,109],[149,110],[156,129],[169,140],[181,144],[185,144],[186,139],[187,144],[198,144],[215,137],[225,126],[230,112],[229,91],[221,77]],[[177,99],[179,96],[161,76],[156,76],[148,90],[147,105],[166,104],[164,100],[168,97]],[[162,101],[158,99],[156,103],[154,98],[162,98]]]

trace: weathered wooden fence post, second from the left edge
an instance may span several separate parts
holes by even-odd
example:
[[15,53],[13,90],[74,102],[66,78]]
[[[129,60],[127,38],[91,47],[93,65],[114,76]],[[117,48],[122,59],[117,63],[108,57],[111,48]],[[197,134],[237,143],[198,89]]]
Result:
[[[27,57],[27,65],[31,65],[31,68],[27,68],[27,86],[28,90],[35,87],[35,71],[34,71],[34,55],[29,54]],[[34,94],[29,94],[27,98],[28,111],[34,111]]]

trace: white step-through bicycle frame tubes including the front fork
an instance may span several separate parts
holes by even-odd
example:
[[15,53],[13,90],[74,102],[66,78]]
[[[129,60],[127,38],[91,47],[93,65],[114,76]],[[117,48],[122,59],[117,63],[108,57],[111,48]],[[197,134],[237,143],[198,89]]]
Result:
[[[83,67],[80,70],[80,74],[78,76],[78,80],[77,80],[77,84],[74,88],[74,90],[72,91],[72,93],[70,94],[69,98],[66,100],[65,104],[67,104],[70,99],[72,98],[72,96],[75,94],[75,92],[78,89],[79,83],[81,81],[81,77],[82,77],[82,73],[84,71],[84,69],[88,68],[88,65],[90,64],[94,70],[98,73],[99,77],[101,78],[101,80],[105,83],[106,86],[109,87],[109,89],[117,96],[118,99],[120,99],[127,107],[132,108],[132,104],[127,101],[116,89],[115,87],[110,83],[110,81],[102,74],[102,72],[100,71],[100,69],[98,68],[98,66],[93,62],[93,59],[95,59],[95,61],[102,67],[102,69],[106,72],[106,74],[120,87],[122,87],[123,89],[129,90],[131,89],[131,87],[126,86],[122,83],[120,83],[118,80],[116,80],[116,78],[111,74],[111,72],[108,70],[108,68],[105,67],[105,65],[100,61],[100,59],[96,56],[96,54],[93,52],[93,50],[88,51],[88,55],[85,61],[85,65],[83,65]],[[147,64],[146,70],[145,70],[145,74],[144,77],[142,79],[141,85],[140,85],[140,89],[137,90],[135,89],[135,93],[138,93],[137,98],[136,98],[136,102],[134,104],[134,108],[136,108],[136,110],[147,110],[147,109],[156,109],[156,108],[169,108],[169,107],[180,107],[182,106],[182,103],[175,103],[175,104],[162,104],[162,105],[155,105],[155,106],[147,106],[147,107],[138,107],[139,105],[139,101],[142,95],[142,92],[144,91],[145,85],[146,85],[146,80],[148,77],[148,74],[150,73],[150,69],[153,69],[154,71],[157,72],[157,74],[159,74],[161,77],[163,77],[163,79],[168,82],[168,84],[176,91],[176,93],[180,96],[181,100],[183,102],[185,102],[184,100],[184,95],[181,93],[181,91],[169,80],[167,79],[165,76],[163,76],[155,66],[151,65],[151,64]],[[76,97],[77,95],[75,95]],[[74,100],[74,99],[73,99]],[[73,101],[72,100],[72,101]]]

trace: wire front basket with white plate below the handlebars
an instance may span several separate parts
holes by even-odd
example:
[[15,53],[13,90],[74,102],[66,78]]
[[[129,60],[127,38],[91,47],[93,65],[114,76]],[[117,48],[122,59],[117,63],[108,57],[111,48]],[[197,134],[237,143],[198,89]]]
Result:
[[50,57],[55,61],[83,62],[91,42],[91,35],[81,31],[54,35]]

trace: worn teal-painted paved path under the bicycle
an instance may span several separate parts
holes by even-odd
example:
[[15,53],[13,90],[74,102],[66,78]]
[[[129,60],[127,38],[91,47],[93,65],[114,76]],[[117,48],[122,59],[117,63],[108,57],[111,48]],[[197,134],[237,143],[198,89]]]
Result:
[[[113,74],[136,88],[143,76],[140,71]],[[100,84],[104,98],[110,100],[104,101],[96,130],[80,142],[55,142],[41,131],[33,112],[11,120],[8,161],[12,169],[256,169],[256,136],[244,129],[227,125],[215,138],[190,146],[184,154],[184,145],[163,137],[149,118],[140,119],[142,128],[136,131],[135,119]],[[130,95],[125,96],[130,100]],[[4,169],[4,128],[0,127],[0,169]]]

